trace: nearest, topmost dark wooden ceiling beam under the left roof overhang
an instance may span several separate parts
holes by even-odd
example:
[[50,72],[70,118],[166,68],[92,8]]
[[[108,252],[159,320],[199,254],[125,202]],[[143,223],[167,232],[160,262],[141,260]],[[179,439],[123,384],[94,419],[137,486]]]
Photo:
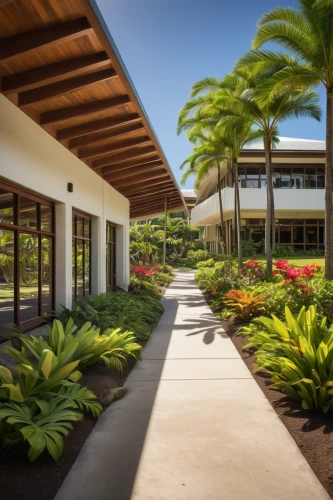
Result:
[[82,17],[66,23],[11,35],[0,40],[0,60],[7,62],[23,54],[32,54],[46,47],[54,47],[90,31],[92,27],[87,18]]

